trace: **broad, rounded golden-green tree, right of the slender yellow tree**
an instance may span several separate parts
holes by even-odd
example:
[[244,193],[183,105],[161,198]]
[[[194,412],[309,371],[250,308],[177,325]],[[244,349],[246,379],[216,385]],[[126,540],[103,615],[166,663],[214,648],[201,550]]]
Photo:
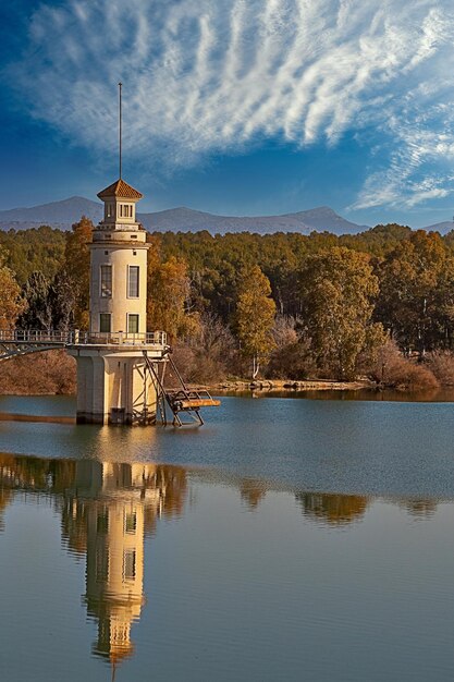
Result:
[[336,246],[309,256],[300,278],[305,333],[318,367],[354,377],[368,341],[384,341],[381,326],[370,332],[379,285],[369,256]]

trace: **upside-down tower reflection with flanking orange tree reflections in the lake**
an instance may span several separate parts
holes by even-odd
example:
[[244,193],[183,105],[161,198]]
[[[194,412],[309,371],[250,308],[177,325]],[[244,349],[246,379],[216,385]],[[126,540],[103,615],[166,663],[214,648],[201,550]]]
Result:
[[182,511],[185,490],[186,475],[177,467],[75,463],[63,533],[70,548],[86,552],[85,602],[98,622],[94,654],[116,662],[133,653],[131,628],[145,601],[145,536],[162,514]]

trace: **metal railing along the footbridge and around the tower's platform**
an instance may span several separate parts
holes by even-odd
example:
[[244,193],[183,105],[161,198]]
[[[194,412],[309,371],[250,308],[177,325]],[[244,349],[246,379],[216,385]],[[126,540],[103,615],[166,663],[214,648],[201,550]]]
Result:
[[42,343],[54,345],[167,345],[164,331],[147,331],[146,333],[90,332],[74,329],[58,331],[41,329],[0,330],[0,343]]

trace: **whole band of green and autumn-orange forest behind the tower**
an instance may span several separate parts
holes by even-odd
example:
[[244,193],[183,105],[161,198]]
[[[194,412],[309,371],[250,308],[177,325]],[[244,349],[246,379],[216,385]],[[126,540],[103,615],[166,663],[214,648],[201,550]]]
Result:
[[[93,224],[0,232],[0,328],[84,329]],[[148,329],[186,377],[454,382],[454,232],[152,233]]]

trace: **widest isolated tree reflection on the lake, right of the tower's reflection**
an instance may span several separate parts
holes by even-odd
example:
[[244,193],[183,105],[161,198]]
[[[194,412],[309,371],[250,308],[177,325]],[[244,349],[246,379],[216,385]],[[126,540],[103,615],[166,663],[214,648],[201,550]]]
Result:
[[297,492],[295,498],[305,516],[330,525],[346,525],[352,521],[359,521],[368,506],[368,499],[357,495]]

